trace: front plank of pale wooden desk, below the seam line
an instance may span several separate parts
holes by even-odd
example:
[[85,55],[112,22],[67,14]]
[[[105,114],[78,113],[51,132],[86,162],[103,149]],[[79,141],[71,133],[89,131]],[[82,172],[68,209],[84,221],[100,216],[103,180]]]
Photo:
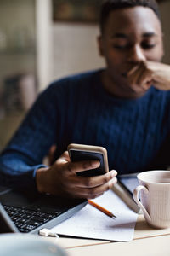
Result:
[[170,235],[67,249],[68,256],[169,256]]

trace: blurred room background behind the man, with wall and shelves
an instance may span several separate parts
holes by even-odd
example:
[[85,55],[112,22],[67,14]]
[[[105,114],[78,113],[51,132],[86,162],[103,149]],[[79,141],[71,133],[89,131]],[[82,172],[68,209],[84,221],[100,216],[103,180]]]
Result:
[[[0,151],[50,82],[105,65],[96,43],[100,3],[0,0]],[[170,1],[159,5],[170,64]]]

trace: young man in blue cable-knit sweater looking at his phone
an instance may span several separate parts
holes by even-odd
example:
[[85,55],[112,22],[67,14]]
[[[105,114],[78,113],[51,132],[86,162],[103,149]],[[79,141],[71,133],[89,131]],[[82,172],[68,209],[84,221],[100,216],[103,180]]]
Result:
[[[100,15],[99,53],[106,67],[51,84],[42,92],[0,158],[1,182],[42,193],[94,198],[120,174],[169,166],[170,67],[163,55],[154,0],[108,0]],[[77,172],[97,161],[71,163],[69,143],[103,146],[110,170]],[[42,159],[55,144],[56,160]]]

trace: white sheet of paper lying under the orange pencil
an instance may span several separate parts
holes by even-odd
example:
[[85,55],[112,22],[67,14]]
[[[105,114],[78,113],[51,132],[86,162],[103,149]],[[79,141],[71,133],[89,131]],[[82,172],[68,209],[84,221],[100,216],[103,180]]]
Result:
[[112,190],[93,201],[113,212],[116,218],[111,218],[88,204],[52,230],[66,236],[131,241],[138,214],[130,210]]

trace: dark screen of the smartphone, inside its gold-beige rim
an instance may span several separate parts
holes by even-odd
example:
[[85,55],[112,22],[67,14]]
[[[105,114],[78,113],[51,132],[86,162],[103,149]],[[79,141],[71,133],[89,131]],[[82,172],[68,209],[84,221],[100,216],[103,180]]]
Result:
[[91,169],[88,171],[77,172],[78,176],[93,177],[105,174],[104,156],[101,153],[81,151],[70,149],[70,156],[72,162],[82,161],[82,160],[99,160],[100,166],[96,169]]

